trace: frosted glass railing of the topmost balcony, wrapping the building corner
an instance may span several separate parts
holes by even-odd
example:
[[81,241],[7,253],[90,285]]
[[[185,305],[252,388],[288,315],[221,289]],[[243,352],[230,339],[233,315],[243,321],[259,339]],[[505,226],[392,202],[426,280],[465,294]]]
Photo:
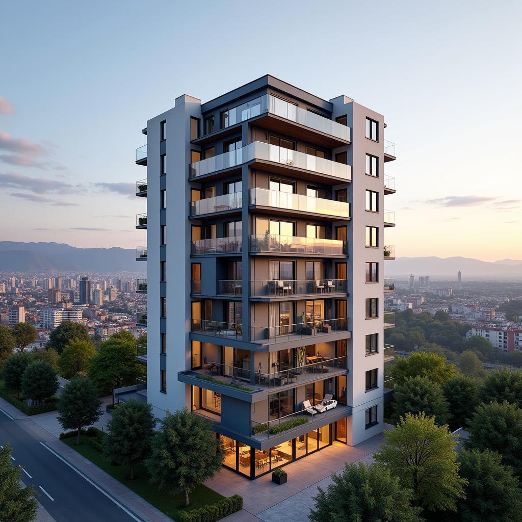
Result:
[[285,120],[299,123],[305,127],[314,129],[330,136],[340,138],[345,141],[350,141],[351,129],[346,125],[334,122],[329,118],[320,116],[311,111],[307,111],[272,94],[264,94],[259,98],[242,103],[233,109],[223,113],[223,128],[230,127],[236,123],[241,123],[250,120],[255,116],[270,113],[275,114]]

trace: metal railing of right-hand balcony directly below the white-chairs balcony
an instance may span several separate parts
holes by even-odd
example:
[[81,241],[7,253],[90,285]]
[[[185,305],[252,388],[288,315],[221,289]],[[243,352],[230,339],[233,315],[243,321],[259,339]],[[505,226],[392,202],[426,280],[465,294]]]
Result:
[[331,334],[347,330],[347,318],[314,319],[304,323],[277,326],[252,326],[251,341],[284,341]]

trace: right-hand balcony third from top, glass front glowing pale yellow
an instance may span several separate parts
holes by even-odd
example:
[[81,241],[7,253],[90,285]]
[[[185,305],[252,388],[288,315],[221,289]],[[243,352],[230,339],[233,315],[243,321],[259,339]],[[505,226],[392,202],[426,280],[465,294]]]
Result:
[[[268,188],[251,188],[250,206],[255,208],[268,207],[272,212],[282,213],[283,215],[287,215],[288,211],[294,211],[313,213],[334,221],[350,219],[350,204],[344,201],[271,191]],[[277,211],[274,209],[277,209]]]

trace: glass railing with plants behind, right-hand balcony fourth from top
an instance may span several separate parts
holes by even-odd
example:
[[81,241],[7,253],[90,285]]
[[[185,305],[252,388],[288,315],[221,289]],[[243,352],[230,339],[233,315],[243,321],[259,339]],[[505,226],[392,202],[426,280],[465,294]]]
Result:
[[250,236],[250,252],[347,255],[348,243],[337,239],[297,238],[267,233]]

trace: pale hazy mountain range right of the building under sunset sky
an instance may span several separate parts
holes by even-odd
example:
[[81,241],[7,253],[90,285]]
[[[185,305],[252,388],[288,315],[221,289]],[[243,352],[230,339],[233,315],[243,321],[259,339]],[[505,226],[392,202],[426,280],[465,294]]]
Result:
[[398,257],[385,262],[386,274],[390,276],[449,277],[457,280],[457,272],[462,272],[462,280],[470,278],[522,279],[522,260],[502,259],[493,263],[469,257]]

